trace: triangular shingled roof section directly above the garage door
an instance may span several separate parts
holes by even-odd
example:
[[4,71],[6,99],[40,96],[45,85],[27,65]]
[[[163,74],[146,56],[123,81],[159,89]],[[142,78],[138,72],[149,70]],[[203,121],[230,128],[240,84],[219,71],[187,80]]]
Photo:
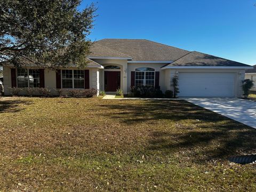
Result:
[[163,67],[167,66],[249,67],[249,65],[246,65],[244,63],[219,58],[213,55],[200,53],[197,51],[189,52],[180,59],[177,59],[174,62],[167,64]]

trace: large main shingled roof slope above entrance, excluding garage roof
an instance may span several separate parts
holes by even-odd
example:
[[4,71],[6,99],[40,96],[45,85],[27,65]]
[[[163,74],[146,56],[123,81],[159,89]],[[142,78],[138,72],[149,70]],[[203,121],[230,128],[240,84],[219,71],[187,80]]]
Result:
[[[102,39],[96,44],[110,49],[105,50],[108,55],[116,54],[116,57],[119,57],[118,55],[123,53],[126,57],[127,55],[132,57],[134,61],[174,61],[189,53],[186,50],[146,39]],[[114,53],[113,50],[117,53]],[[92,51],[95,55],[98,54],[95,47],[92,48]],[[99,54],[102,55],[102,51]]]

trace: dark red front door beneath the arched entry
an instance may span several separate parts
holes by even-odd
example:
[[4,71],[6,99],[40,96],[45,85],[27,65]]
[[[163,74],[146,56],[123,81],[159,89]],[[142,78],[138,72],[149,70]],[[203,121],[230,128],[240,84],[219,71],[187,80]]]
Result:
[[120,89],[120,71],[105,71],[105,91],[114,92]]

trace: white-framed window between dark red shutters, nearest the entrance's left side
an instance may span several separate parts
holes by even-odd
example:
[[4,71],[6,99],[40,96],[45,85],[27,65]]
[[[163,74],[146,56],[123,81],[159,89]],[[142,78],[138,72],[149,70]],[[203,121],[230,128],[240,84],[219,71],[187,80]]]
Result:
[[61,70],[62,88],[84,89],[84,70]]

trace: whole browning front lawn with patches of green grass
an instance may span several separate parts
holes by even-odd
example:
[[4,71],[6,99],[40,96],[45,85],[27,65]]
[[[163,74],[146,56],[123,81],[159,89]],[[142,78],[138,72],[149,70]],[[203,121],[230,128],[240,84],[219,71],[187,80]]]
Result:
[[0,98],[0,191],[255,191],[256,130],[175,100]]

